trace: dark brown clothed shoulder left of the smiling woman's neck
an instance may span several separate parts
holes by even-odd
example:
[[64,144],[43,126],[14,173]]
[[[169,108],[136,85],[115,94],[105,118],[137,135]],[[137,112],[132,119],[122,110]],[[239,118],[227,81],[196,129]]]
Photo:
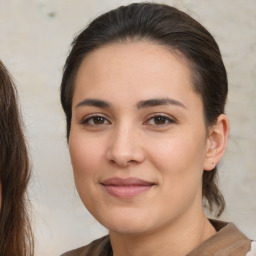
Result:
[[111,251],[109,236],[104,236],[86,246],[66,252],[61,256],[108,256]]

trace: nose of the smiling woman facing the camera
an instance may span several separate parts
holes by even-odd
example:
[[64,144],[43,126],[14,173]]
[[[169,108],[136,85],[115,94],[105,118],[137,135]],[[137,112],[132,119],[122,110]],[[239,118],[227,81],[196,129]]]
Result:
[[145,159],[142,145],[142,138],[135,129],[121,127],[113,131],[107,150],[107,159],[120,167],[142,163]]

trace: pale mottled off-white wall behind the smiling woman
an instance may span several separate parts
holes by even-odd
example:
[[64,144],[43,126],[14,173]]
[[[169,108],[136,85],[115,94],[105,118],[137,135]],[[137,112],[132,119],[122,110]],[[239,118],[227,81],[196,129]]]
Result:
[[[0,58],[14,77],[33,176],[30,183],[36,255],[60,255],[107,231],[75,190],[59,86],[74,36],[93,18],[128,0],[0,0]],[[141,2],[141,1],[137,1]],[[229,77],[228,149],[220,185],[233,221],[256,239],[256,1],[166,0],[215,37]]]

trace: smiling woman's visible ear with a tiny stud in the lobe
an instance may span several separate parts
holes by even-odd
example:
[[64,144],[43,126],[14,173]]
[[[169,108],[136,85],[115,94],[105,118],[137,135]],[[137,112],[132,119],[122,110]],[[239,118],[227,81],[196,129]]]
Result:
[[218,164],[225,152],[228,135],[228,118],[221,114],[218,116],[216,124],[211,126],[208,131],[204,170],[211,171]]

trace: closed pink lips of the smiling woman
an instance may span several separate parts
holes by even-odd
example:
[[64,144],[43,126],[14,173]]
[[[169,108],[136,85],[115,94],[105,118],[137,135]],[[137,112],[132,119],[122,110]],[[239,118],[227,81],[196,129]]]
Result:
[[132,198],[154,186],[154,183],[137,178],[110,178],[101,182],[107,192],[119,198]]

